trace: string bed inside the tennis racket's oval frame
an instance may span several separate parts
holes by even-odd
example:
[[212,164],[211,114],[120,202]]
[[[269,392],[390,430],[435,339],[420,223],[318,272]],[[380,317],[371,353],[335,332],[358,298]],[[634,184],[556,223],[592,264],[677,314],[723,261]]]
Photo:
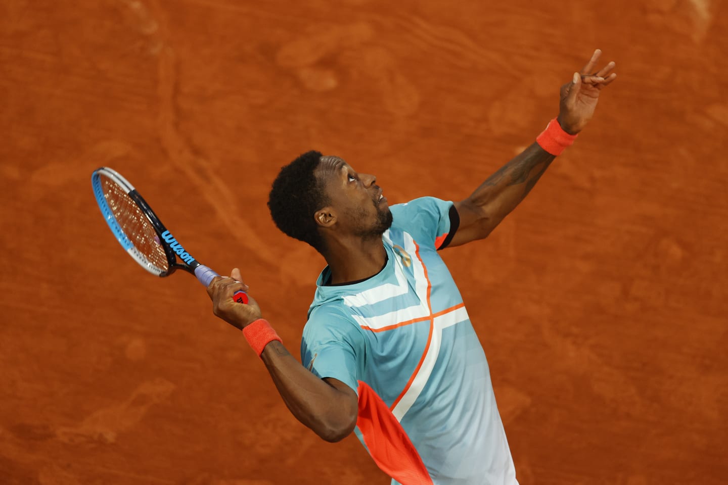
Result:
[[102,181],[103,195],[124,234],[151,265],[167,271],[169,269],[167,254],[159,243],[159,236],[149,219],[123,188],[107,177],[102,177]]

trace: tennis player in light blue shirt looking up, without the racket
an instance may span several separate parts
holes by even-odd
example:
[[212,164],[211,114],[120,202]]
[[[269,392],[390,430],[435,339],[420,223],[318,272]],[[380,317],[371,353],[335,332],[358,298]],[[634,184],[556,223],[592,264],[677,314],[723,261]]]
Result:
[[240,271],[208,287],[215,315],[243,329],[290,412],[326,441],[356,433],[392,484],[518,484],[488,363],[438,251],[488,236],[593,116],[614,63],[594,52],[561,87],[558,117],[536,143],[457,202],[391,207],[376,177],[309,151],[269,197],[281,231],[312,245],[320,274],[290,355],[261,309],[232,301]]

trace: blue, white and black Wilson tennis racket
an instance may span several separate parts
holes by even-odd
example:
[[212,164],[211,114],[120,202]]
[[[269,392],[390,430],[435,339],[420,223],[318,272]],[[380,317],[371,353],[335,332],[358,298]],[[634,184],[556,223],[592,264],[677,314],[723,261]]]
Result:
[[[205,287],[218,273],[195,260],[167,231],[149,204],[118,172],[100,167],[91,175],[91,185],[101,214],[119,244],[142,268],[156,276],[170,276],[175,270],[194,274]],[[233,300],[248,303],[245,292]]]

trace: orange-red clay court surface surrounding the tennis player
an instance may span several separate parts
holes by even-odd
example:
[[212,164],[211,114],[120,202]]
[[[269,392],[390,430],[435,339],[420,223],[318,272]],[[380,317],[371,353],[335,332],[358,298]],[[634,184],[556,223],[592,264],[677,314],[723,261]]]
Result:
[[728,4],[5,0],[0,483],[386,484],[288,413],[188,275],[125,256],[107,165],[246,281],[298,354],[323,260],[277,232],[315,148],[390,202],[462,199],[595,47],[619,78],[486,241],[444,253],[521,484],[725,484]]

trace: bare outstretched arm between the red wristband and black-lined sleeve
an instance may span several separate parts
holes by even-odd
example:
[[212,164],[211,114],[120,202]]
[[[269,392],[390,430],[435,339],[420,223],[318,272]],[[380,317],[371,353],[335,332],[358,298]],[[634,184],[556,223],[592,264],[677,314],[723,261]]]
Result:
[[529,194],[555,156],[538,143],[515,156],[483,182],[459,208],[476,213],[480,237],[486,237]]

